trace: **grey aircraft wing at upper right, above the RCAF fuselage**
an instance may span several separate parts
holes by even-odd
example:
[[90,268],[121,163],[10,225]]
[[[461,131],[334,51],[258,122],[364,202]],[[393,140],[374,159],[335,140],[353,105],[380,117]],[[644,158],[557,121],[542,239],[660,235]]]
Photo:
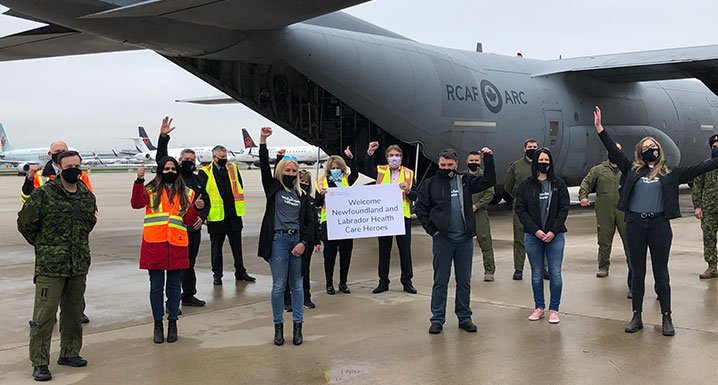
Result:
[[580,73],[623,83],[696,78],[718,91],[718,45],[553,60],[534,76]]

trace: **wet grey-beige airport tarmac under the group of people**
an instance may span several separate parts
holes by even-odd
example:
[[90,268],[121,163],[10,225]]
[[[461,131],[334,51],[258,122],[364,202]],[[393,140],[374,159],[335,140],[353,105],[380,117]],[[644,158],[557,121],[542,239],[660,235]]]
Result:
[[[705,269],[699,221],[682,189],[683,218],[672,221],[671,253],[675,337],[660,333],[660,309],[652,276],[646,279],[645,327],[623,328],[631,316],[626,264],[614,242],[607,278],[596,278],[593,210],[573,207],[563,264],[561,323],[529,322],[533,310],[528,262],[524,280],[513,281],[511,213],[491,212],[496,281],[483,282],[475,247],[472,309],[479,332],[457,328],[453,278],[444,332],[429,335],[431,239],[413,227],[417,295],[401,291],[396,248],[391,290],[377,284],[377,242],[354,242],[349,272],[352,293],[324,292],[321,255],[311,265],[316,309],[305,311],[304,344],[277,347],[267,263],[257,258],[264,194],[257,170],[243,170],[247,200],[244,261],[256,283],[236,283],[225,245],[223,286],[212,285],[209,236],[202,237],[197,297],[203,308],[183,309],[179,341],[152,342],[149,280],[138,269],[142,210],[129,205],[134,173],[91,175],[99,223],[91,236],[93,263],[87,283],[82,356],[84,368],[58,366],[59,334],[51,350],[56,384],[707,384],[718,377],[718,279],[699,280]],[[0,177],[0,383],[32,383],[28,320],[32,316],[34,255],[16,229],[19,177]],[[575,197],[574,197],[575,198]],[[337,268],[338,270],[338,268]],[[650,271],[650,269],[649,269]],[[338,275],[338,271],[335,272]],[[546,290],[548,300],[548,290]],[[285,313],[285,336],[291,314]]]

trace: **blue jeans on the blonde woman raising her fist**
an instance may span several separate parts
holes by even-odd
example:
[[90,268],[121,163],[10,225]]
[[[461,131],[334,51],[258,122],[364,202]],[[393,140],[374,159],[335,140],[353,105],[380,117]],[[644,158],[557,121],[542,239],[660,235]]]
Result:
[[274,323],[284,322],[284,290],[289,276],[289,290],[292,293],[292,318],[294,322],[304,320],[304,287],[302,286],[302,257],[292,255],[292,249],[299,243],[299,234],[274,233],[269,269],[272,271],[272,315]]

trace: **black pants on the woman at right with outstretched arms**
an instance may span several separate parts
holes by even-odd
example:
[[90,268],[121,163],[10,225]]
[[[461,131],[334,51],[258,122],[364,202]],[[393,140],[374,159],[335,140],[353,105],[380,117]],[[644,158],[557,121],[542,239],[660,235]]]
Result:
[[646,281],[646,251],[651,251],[653,279],[661,312],[671,312],[671,284],[668,275],[668,255],[671,251],[673,231],[671,224],[663,217],[641,218],[640,214],[626,213],[626,238],[630,254],[631,290],[633,292],[633,310],[643,310],[643,295]]

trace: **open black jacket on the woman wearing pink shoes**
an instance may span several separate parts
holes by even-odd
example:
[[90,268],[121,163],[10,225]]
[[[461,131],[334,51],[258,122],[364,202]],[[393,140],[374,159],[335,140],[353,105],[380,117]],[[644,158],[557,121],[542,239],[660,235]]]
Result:
[[551,200],[548,207],[548,216],[546,217],[546,226],[541,226],[539,193],[541,193],[541,182],[535,177],[524,180],[516,188],[514,209],[524,233],[533,235],[538,230],[551,231],[554,234],[565,233],[568,208],[571,204],[566,183],[561,178],[551,179]]

